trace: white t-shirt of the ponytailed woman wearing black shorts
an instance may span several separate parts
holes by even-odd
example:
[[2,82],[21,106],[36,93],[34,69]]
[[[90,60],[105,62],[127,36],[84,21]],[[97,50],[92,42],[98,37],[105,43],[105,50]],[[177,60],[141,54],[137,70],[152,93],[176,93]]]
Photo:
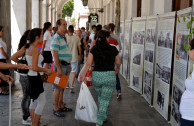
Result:
[[44,40],[46,40],[44,51],[51,51],[50,46],[51,46],[52,37],[51,37],[50,31],[48,30],[45,31],[43,41]]

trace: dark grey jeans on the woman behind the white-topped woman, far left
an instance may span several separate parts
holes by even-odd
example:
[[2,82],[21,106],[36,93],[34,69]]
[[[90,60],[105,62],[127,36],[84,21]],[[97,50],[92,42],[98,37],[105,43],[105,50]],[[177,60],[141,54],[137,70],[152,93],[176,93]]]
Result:
[[29,92],[28,77],[20,75],[20,83],[21,83],[22,91],[23,91],[23,98],[22,98],[22,103],[21,103],[23,120],[26,120],[30,116],[30,112],[29,112],[30,96],[28,94]]

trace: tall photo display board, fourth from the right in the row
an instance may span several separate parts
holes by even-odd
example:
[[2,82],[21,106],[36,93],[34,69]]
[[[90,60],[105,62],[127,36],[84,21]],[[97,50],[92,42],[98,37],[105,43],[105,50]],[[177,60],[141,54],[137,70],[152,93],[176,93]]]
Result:
[[142,94],[145,17],[133,18],[131,37],[130,87]]

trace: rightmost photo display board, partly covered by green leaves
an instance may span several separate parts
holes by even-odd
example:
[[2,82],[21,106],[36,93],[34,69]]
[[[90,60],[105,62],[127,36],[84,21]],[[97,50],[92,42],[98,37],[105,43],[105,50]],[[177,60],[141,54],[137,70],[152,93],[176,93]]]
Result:
[[[174,53],[174,70],[173,70],[173,88],[171,102],[171,124],[180,126],[179,106],[181,96],[185,91],[185,80],[187,78],[188,54],[185,51],[184,43],[188,45],[187,35],[190,34],[190,29],[187,28],[187,23],[191,17],[192,8],[177,11],[176,23],[176,40]],[[185,18],[185,21],[183,21]]]

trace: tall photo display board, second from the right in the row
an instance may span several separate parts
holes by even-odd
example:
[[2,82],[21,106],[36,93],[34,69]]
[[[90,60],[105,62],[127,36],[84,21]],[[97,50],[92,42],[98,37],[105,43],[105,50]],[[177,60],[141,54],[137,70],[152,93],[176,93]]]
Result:
[[171,85],[171,65],[173,51],[175,12],[161,14],[158,17],[154,108],[168,120],[169,90]]

